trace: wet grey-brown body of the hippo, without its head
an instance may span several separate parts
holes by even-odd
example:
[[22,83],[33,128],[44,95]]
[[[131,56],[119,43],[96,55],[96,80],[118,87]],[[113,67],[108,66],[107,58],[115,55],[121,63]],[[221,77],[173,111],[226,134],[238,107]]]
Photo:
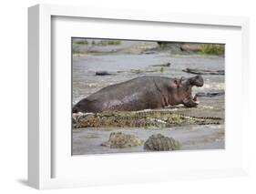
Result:
[[169,81],[168,77],[137,77],[104,87],[79,101],[75,107],[76,109],[82,107],[80,110],[82,112],[129,111],[157,107],[159,91],[156,85],[167,81]]

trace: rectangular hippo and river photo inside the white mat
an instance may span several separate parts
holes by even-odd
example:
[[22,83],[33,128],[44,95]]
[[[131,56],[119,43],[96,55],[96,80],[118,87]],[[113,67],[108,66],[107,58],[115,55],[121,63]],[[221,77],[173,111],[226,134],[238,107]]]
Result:
[[225,148],[224,61],[224,44],[72,37],[72,154]]

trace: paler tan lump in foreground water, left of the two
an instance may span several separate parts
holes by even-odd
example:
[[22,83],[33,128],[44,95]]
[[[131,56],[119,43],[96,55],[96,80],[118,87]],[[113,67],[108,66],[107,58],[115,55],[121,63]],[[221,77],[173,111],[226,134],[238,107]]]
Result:
[[110,148],[129,148],[135,146],[141,146],[143,140],[133,135],[127,135],[122,132],[112,132],[107,142],[101,144]]

